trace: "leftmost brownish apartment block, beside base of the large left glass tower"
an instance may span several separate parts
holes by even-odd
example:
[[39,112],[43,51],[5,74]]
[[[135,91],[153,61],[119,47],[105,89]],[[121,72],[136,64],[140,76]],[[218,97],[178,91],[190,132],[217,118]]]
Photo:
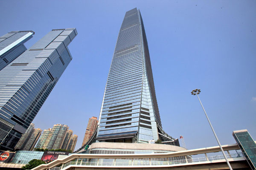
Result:
[[37,128],[34,129],[35,125],[34,123],[31,123],[29,125],[29,128],[26,130],[26,132],[21,136],[19,142],[16,144],[15,149],[18,150],[33,150],[35,147],[36,142],[38,142],[38,139],[42,133],[42,130]]

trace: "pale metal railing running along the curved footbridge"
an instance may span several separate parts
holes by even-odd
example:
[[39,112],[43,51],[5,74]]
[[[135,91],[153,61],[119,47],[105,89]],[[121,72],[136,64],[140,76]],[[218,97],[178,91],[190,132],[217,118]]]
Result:
[[[233,153],[233,154],[227,154],[227,158],[240,158],[243,157],[242,153]],[[110,157],[111,158],[111,157]],[[188,158],[188,159],[180,159],[180,160],[172,160],[172,161],[158,161],[158,160],[133,160],[130,159],[126,162],[119,162],[116,161],[116,159],[113,159],[113,161],[108,162],[102,162],[102,161],[77,161],[73,160],[66,164],[63,164],[61,167],[54,167],[50,170],[61,170],[65,167],[76,165],[76,166],[151,166],[151,165],[172,165],[172,164],[186,164],[186,163],[195,163],[195,162],[204,162],[204,161],[216,161],[216,160],[222,160],[224,159],[223,155],[217,155],[217,156],[207,156],[207,157],[201,157],[201,158]],[[104,159],[103,159],[104,160]]]

